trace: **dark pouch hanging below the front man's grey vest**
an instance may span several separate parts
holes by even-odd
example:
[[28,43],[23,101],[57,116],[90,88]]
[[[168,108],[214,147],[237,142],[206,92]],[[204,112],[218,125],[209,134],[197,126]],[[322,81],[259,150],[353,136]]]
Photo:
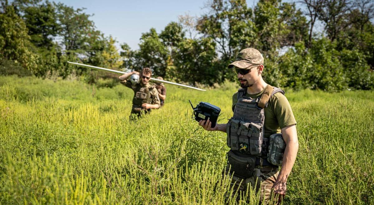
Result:
[[240,157],[230,150],[227,152],[227,160],[229,165],[231,165],[230,173],[234,172],[235,176],[243,179],[253,176],[256,163],[255,157],[249,155],[248,157]]

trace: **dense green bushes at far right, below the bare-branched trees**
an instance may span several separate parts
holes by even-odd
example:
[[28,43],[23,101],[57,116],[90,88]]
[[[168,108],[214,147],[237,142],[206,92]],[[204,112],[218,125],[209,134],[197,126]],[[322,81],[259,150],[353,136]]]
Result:
[[308,52],[300,43],[281,57],[281,76],[287,79],[282,86],[324,91],[373,88],[374,72],[360,51],[338,51],[336,44],[327,39],[312,44]]

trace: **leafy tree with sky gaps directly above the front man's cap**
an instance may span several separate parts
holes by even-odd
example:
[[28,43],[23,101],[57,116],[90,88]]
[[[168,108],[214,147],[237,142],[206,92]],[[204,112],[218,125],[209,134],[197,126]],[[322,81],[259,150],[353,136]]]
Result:
[[210,11],[198,20],[197,30],[216,43],[223,60],[232,59],[243,44],[255,40],[252,10],[244,0],[213,0],[207,7]]

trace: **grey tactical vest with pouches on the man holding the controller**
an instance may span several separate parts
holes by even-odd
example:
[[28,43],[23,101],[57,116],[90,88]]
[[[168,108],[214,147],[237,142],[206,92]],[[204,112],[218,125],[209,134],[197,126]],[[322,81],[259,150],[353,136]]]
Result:
[[227,146],[231,148],[227,159],[234,175],[248,178],[253,176],[255,165],[282,165],[286,144],[281,133],[264,137],[264,108],[278,92],[285,94],[267,85],[261,97],[253,99],[245,96],[246,88],[238,90],[234,116],[227,123]]

